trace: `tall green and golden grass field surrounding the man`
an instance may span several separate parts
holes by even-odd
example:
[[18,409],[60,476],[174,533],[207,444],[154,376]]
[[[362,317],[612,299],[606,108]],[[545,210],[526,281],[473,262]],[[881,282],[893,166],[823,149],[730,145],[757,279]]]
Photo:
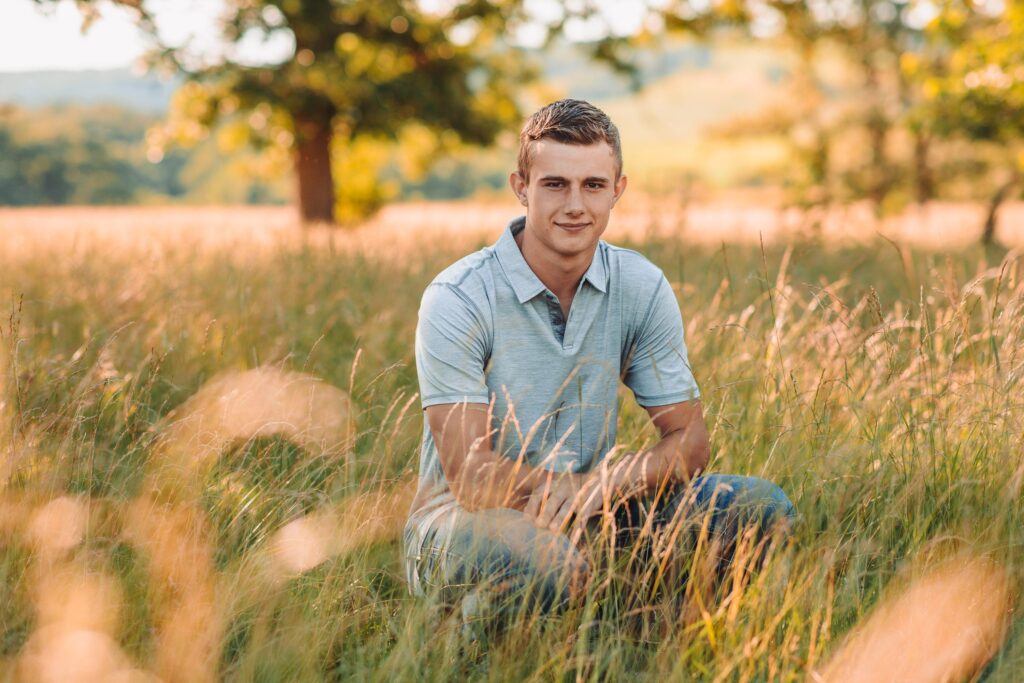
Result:
[[[421,215],[3,216],[0,680],[793,681],[872,624],[929,666],[952,649],[914,651],[929,628],[1000,631],[1024,579],[1024,258],[660,224],[614,241],[678,295],[712,469],[778,482],[800,523],[717,592],[638,609],[601,584],[467,653],[401,579],[412,341],[424,286],[500,225]],[[622,402],[621,442],[651,442]],[[1012,635],[987,680],[1022,670]]]

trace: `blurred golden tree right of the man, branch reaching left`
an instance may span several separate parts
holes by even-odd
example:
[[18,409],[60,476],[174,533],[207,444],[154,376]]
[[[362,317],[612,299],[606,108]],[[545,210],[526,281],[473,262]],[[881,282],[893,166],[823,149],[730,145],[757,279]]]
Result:
[[[931,159],[936,132],[920,116],[926,100],[922,75],[947,71],[953,47],[928,40],[930,20],[941,6],[973,26],[983,13],[978,5],[971,0],[667,0],[647,6],[669,31],[707,34],[731,25],[791,46],[798,57],[794,97],[739,123],[790,141],[808,178],[805,202],[830,202],[838,176],[850,196],[866,197],[881,213],[904,183],[919,203],[938,191]],[[827,52],[842,54],[856,75],[840,92],[818,73]],[[837,140],[849,133],[863,138],[862,144],[848,145],[852,162],[835,153]],[[894,154],[893,142],[903,141],[894,133],[909,142],[906,160]]]

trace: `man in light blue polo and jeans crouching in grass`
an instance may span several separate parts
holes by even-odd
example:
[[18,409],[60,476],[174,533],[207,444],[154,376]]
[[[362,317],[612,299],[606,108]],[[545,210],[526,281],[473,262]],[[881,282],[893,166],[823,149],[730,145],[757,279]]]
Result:
[[[509,177],[526,215],[423,295],[407,580],[416,595],[461,601],[467,621],[498,596],[570,603],[606,554],[592,550],[602,527],[680,556],[703,533],[721,570],[743,529],[763,547],[795,514],[773,483],[702,474],[708,431],[672,287],[600,240],[626,180],[603,112],[545,106],[523,126]],[[615,443],[620,380],[660,435],[649,450]]]

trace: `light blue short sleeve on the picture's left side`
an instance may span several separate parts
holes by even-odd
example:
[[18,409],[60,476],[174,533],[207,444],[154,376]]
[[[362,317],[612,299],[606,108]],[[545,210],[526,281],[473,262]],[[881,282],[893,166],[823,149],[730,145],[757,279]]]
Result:
[[449,285],[430,285],[416,326],[416,372],[423,408],[486,403],[487,327],[476,306]]

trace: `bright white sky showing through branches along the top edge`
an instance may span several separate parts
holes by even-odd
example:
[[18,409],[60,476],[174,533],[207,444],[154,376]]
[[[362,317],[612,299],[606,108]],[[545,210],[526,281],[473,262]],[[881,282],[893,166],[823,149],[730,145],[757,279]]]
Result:
[[[443,5],[444,0],[421,0],[423,5]],[[616,33],[635,33],[642,15],[635,0],[600,2]],[[41,9],[33,0],[0,0],[0,72],[41,70],[80,71],[131,67],[145,51],[146,42],[131,14],[110,3],[99,5],[100,17],[83,34],[82,15],[72,0]],[[199,52],[222,50],[216,23],[222,3],[218,0],[148,0],[162,38],[172,45],[190,41]],[[539,18],[550,18],[551,0],[527,0]],[[592,37],[595,26],[567,28],[570,38]],[[520,42],[538,38],[537,27],[526,27]],[[290,39],[250,41],[233,57],[242,61],[280,61],[294,51]]]

